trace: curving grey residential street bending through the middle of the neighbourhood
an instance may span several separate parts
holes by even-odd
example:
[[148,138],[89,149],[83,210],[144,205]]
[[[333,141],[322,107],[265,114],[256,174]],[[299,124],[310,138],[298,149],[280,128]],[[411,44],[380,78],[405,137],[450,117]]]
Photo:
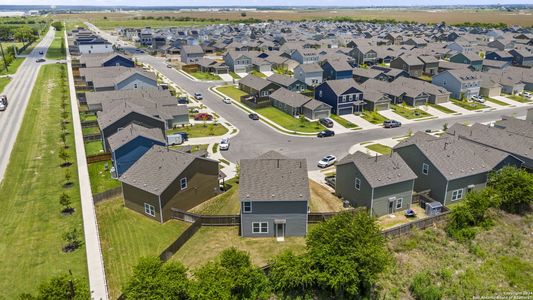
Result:
[[[114,43],[117,42],[116,36],[103,31],[100,31],[100,34]],[[120,43],[123,44],[123,42]],[[250,120],[248,113],[236,105],[223,103],[219,96],[209,91],[209,87],[215,86],[216,83],[191,80],[175,69],[167,68],[164,58],[140,54],[132,46],[123,46],[123,48],[139,61],[151,65],[188,93],[201,92],[204,96],[202,102],[206,106],[239,128],[239,134],[231,139],[230,149],[224,151],[224,157],[232,162],[238,162],[242,158],[253,158],[269,150],[276,150],[289,157],[306,158],[309,170],[315,170],[318,169],[316,163],[323,156],[333,154],[341,158],[348,154],[350,147],[360,142],[403,136],[408,133],[409,129],[412,132],[426,129],[440,130],[444,123],[451,126],[454,123],[491,122],[500,119],[502,115],[520,117],[524,116],[527,110],[527,107],[504,108],[473,115],[419,121],[394,129],[376,128],[353,131],[328,138],[289,136],[264,123]]]

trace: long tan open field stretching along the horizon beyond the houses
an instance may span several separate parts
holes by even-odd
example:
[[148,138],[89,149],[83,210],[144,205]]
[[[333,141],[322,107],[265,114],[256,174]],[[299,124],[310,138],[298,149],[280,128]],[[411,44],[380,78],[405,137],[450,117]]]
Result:
[[[153,20],[141,20],[153,17]],[[104,19],[106,17],[107,19]],[[133,18],[137,17],[138,20]],[[161,17],[160,20],[157,20]],[[473,10],[473,9],[436,9],[436,10],[416,10],[416,9],[295,9],[295,10],[257,10],[248,11],[246,16],[241,16],[240,11],[221,12],[201,12],[201,11],[136,11],[130,13],[91,13],[91,14],[60,14],[59,19],[90,20],[97,26],[104,28],[114,28],[119,26],[132,27],[164,27],[180,26],[183,21],[173,21],[164,19],[170,18],[197,18],[206,19],[195,20],[190,23],[201,25],[206,23],[223,23],[228,21],[244,21],[246,19],[259,20],[303,20],[303,19],[334,19],[352,18],[359,20],[396,20],[421,23],[446,22],[447,24],[457,24],[463,22],[479,23],[505,23],[510,25],[532,26],[533,18],[531,10],[523,11],[500,11],[500,10]],[[211,20],[209,20],[211,19]],[[218,20],[216,20],[218,19]],[[180,19],[183,20],[183,19]],[[228,21],[226,21],[228,20]]]

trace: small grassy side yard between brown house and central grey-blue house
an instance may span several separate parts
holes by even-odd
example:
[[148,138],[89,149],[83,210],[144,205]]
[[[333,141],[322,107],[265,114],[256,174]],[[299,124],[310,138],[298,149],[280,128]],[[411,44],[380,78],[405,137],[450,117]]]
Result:
[[207,200],[190,211],[201,215],[238,215],[240,212],[239,185],[236,179],[226,181],[226,192]]

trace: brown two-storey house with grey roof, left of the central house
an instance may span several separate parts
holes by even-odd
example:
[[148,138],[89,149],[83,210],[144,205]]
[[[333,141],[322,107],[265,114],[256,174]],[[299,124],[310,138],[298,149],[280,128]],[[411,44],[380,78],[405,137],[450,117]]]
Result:
[[155,145],[119,180],[124,206],[158,222],[219,193],[218,161]]

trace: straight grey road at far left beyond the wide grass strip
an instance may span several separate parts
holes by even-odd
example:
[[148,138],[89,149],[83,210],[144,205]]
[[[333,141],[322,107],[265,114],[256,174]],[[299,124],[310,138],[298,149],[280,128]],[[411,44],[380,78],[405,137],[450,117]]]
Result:
[[[37,79],[39,67],[42,64],[35,61],[46,55],[46,51],[54,39],[54,34],[55,30],[50,29],[48,31],[19,66],[17,73],[12,75],[11,81],[2,92],[2,94],[7,95],[8,106],[5,111],[0,112],[0,182],[4,178],[26,106]],[[43,51],[43,55],[39,54],[40,51]]]

